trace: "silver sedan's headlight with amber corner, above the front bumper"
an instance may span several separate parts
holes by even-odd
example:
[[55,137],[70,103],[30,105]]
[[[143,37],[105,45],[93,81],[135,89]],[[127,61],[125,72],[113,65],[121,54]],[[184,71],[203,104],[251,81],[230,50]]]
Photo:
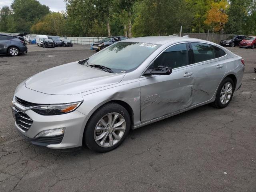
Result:
[[60,115],[66,114],[74,111],[76,108],[80,106],[80,102],[76,103],[68,103],[68,104],[53,104],[48,106],[38,106],[32,109],[34,112],[40,115]]

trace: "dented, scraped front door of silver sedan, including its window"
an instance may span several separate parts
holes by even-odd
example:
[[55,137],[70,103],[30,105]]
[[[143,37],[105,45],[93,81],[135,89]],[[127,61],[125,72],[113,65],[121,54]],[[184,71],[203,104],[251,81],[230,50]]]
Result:
[[139,79],[142,122],[191,106],[194,70],[192,66],[187,66],[186,47],[186,43],[170,46],[150,66],[171,67],[172,74],[142,76]]

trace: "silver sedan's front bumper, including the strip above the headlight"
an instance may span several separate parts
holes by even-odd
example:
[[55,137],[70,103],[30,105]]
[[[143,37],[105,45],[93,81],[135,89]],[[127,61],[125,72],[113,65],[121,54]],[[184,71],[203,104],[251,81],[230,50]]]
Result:
[[[22,106],[20,103],[16,102],[15,96],[32,102],[32,103],[69,103],[78,100],[82,100],[81,94],[75,95],[48,95],[34,90],[28,89],[24,86],[24,82],[21,83],[14,93],[12,101],[12,112],[14,115],[16,130],[32,144],[46,146],[53,149],[64,149],[64,148],[74,148],[82,146],[82,139],[84,128],[89,117],[74,110],[73,112],[61,115],[44,116],[34,112],[32,109]],[[59,101],[59,102],[57,102]],[[49,102],[50,103],[50,102]],[[79,108],[78,108],[79,109]],[[19,116],[16,116],[15,110],[20,112]],[[17,112],[16,112],[17,113]],[[22,116],[22,118],[20,118]],[[30,119],[30,120],[28,120]],[[23,122],[29,123],[23,124]],[[25,126],[27,129],[22,127]],[[57,135],[56,137],[41,137],[36,138],[36,136],[44,131],[50,129],[64,128],[65,132],[63,135]]]

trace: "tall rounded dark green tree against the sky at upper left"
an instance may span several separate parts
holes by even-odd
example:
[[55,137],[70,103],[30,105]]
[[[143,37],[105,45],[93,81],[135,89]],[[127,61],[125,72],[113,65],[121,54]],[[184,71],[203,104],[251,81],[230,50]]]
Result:
[[49,7],[36,0],[14,0],[11,4],[17,32],[28,32],[43,16],[50,13]]

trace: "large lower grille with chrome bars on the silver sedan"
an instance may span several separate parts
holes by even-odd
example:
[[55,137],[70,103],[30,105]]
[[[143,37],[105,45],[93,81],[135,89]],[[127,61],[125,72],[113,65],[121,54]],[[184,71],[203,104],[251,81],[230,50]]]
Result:
[[17,108],[13,108],[15,114],[16,124],[24,131],[29,130],[31,127],[33,120],[24,112],[18,110]]

